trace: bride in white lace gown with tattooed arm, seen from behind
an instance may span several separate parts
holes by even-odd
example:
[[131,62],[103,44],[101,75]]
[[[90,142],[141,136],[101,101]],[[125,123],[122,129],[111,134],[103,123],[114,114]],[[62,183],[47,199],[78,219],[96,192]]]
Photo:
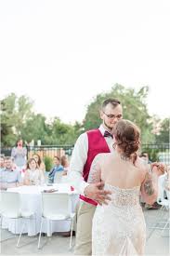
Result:
[[93,255],[143,255],[146,224],[139,195],[152,204],[157,197],[158,176],[137,156],[139,129],[128,120],[120,120],[114,131],[115,151],[95,157],[88,182],[105,182],[111,191],[108,204],[98,205],[92,227]]

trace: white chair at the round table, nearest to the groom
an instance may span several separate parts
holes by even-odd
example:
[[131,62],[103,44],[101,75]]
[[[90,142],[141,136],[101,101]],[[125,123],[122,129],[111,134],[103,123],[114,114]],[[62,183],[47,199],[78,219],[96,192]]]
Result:
[[72,201],[71,195],[66,193],[42,193],[42,220],[40,226],[40,234],[38,239],[38,249],[41,249],[40,239],[42,233],[42,225],[44,219],[46,219],[47,224],[50,228],[51,234],[51,222],[52,221],[64,221],[71,220],[71,238],[70,246],[72,248],[72,229],[73,229],[73,219],[75,213],[72,212]]

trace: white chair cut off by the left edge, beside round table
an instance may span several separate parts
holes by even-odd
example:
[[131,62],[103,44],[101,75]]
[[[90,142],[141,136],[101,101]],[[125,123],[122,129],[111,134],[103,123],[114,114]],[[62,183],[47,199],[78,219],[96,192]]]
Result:
[[[8,218],[8,219],[14,219],[15,220],[15,234],[16,234],[16,221],[17,219],[33,219],[34,212],[23,212],[20,209],[20,194],[17,192],[7,192],[7,191],[2,191],[1,192],[1,197],[2,197],[2,213],[1,213],[1,225],[3,218]],[[34,218],[35,220],[35,218]],[[36,223],[36,222],[35,222]],[[25,223],[22,224],[21,231],[20,231],[20,236],[17,241],[17,247],[19,247],[20,243],[20,237],[22,235],[23,227],[25,226]],[[7,237],[2,241],[5,241],[9,238],[12,238],[15,236],[10,236]]]

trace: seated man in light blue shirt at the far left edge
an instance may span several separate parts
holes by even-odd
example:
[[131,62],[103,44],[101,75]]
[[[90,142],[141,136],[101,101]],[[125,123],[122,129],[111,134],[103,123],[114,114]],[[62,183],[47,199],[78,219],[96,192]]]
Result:
[[19,186],[20,183],[20,170],[13,168],[13,162],[10,156],[5,159],[6,168],[1,171],[0,188],[7,189],[9,187]]

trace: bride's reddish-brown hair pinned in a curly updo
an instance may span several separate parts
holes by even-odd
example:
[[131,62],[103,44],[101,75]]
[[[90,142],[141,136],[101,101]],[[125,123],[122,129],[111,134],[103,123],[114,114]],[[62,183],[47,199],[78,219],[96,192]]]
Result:
[[119,120],[113,134],[116,144],[122,149],[125,157],[130,157],[137,152],[140,143],[140,130],[134,123],[125,119]]

